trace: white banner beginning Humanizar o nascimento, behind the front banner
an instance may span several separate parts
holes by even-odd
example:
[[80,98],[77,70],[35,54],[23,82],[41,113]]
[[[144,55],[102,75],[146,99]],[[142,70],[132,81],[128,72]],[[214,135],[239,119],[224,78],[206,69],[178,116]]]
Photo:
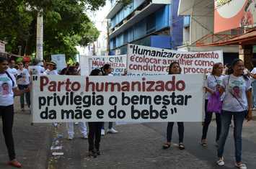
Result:
[[128,45],[128,76],[168,74],[169,64],[180,63],[182,74],[211,73],[214,63],[223,63],[223,52],[185,52],[141,45]]

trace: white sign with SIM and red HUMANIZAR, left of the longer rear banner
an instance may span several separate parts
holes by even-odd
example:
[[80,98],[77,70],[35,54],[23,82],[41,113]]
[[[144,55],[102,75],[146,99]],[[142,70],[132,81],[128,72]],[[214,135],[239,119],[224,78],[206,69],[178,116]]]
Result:
[[113,76],[122,76],[126,69],[126,55],[92,56],[89,57],[89,72],[94,68],[100,68],[105,64],[110,64]]

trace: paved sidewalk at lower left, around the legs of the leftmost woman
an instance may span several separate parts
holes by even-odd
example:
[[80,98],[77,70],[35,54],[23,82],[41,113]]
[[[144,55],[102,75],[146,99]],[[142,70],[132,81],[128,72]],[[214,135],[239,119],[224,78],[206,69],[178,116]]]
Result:
[[[45,169],[48,163],[48,153],[50,151],[51,124],[30,124],[30,114],[28,109],[22,112],[19,109],[19,97],[15,98],[14,107],[14,145],[17,160],[22,163],[25,169]],[[2,132],[2,122],[0,122],[0,168],[12,168],[6,165],[9,160],[4,135]]]

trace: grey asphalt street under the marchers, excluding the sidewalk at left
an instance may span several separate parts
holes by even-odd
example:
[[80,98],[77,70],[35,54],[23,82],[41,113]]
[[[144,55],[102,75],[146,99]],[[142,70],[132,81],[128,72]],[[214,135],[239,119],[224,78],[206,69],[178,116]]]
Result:
[[[208,132],[208,147],[199,144],[202,126],[200,123],[185,123],[185,150],[177,145],[162,150],[165,141],[166,123],[144,123],[118,125],[118,134],[107,134],[102,138],[102,155],[90,158],[87,140],[81,139],[76,130],[74,140],[66,139],[66,128],[58,128],[63,134],[63,155],[51,157],[49,168],[220,168],[216,165],[215,124]],[[244,124],[243,159],[248,168],[256,166],[256,122]],[[78,128],[78,127],[76,127]],[[174,127],[174,143],[177,143],[177,127]],[[226,142],[225,162],[221,168],[234,167],[234,141]]]

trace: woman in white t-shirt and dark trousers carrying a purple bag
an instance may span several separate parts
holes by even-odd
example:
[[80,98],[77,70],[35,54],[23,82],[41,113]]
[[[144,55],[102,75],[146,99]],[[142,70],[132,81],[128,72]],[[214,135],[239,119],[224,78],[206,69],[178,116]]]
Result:
[[[208,99],[211,97],[211,95],[216,94],[216,91],[219,92],[219,87],[222,83],[222,80],[224,76],[222,76],[223,72],[223,65],[222,63],[215,63],[213,65],[213,70],[210,76],[207,77],[206,80],[206,101],[205,101],[205,119],[203,122],[203,134],[201,138],[201,145],[206,146],[206,135],[208,131],[208,126],[211,123],[211,118],[213,116],[213,112],[207,111],[207,104],[208,104]],[[223,96],[220,98],[223,99]],[[216,125],[217,125],[217,133],[216,133],[216,142],[219,140],[219,135],[221,134],[221,114],[219,112],[214,112],[216,116]]]

